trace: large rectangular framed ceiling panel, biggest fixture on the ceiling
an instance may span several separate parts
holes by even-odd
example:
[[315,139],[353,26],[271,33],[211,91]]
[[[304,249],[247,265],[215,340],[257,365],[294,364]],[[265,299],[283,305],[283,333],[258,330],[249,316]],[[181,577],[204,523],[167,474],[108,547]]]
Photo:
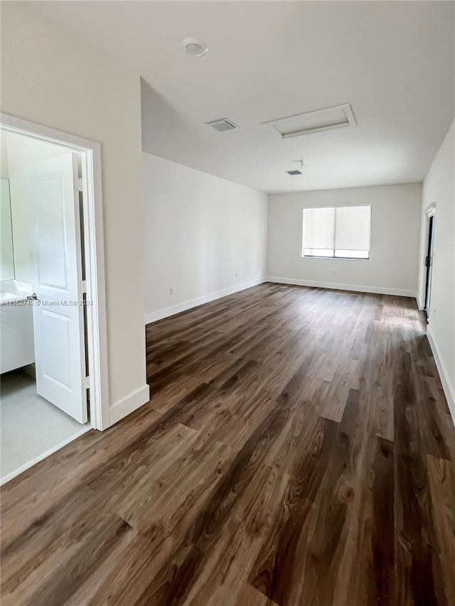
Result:
[[279,132],[282,139],[319,133],[330,129],[341,129],[345,126],[355,126],[353,110],[349,103],[334,105],[314,112],[294,114],[285,118],[268,120],[261,124],[270,124]]

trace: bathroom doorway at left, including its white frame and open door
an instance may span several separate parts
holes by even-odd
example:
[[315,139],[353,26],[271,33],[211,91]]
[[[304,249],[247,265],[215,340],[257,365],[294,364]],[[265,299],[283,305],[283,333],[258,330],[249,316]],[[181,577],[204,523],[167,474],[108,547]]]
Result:
[[0,126],[3,484],[109,426],[109,405],[99,144]]

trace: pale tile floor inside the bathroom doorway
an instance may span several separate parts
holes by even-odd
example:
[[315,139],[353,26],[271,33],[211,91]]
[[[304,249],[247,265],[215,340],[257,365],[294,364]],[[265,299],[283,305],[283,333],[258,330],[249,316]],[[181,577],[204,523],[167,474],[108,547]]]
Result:
[[36,384],[22,371],[0,378],[0,477],[3,481],[46,450],[85,426],[36,393]]

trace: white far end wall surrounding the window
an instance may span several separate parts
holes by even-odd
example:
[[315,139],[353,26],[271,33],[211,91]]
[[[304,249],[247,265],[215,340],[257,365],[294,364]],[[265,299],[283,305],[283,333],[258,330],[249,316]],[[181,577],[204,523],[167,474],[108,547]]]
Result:
[[[320,190],[269,196],[268,275],[326,288],[415,296],[422,185]],[[370,205],[370,260],[303,259],[304,207]]]

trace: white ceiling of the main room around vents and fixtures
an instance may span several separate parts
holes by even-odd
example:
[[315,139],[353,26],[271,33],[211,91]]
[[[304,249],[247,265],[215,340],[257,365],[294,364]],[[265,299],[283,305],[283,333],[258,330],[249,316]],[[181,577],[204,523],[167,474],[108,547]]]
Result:
[[[421,181],[454,117],[451,1],[33,4],[141,75],[144,151],[259,190]],[[185,55],[186,36],[209,53]],[[356,128],[260,124],[345,103]],[[240,128],[204,124],[223,117]]]

